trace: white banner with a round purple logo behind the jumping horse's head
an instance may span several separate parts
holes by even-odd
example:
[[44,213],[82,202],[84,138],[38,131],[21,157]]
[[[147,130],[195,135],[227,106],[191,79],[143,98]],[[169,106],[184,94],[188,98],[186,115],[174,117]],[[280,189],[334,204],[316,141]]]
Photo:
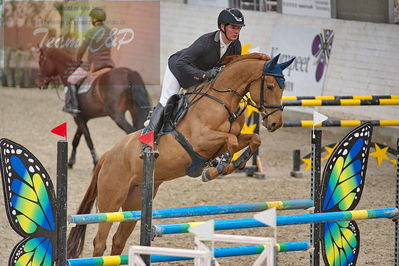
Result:
[[270,56],[281,54],[279,63],[296,57],[284,70],[284,95],[322,95],[333,38],[332,30],[281,24],[274,27]]

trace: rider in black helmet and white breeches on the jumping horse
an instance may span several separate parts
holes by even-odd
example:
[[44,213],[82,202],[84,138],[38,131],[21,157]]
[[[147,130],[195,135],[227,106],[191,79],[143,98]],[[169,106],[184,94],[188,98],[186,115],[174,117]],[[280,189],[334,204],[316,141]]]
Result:
[[220,63],[226,56],[241,54],[239,34],[245,26],[241,11],[226,8],[220,12],[217,23],[219,30],[202,35],[189,47],[169,57],[161,98],[142,134],[154,130],[157,135],[162,127],[166,103],[181,87],[187,89],[215,78],[220,71]]

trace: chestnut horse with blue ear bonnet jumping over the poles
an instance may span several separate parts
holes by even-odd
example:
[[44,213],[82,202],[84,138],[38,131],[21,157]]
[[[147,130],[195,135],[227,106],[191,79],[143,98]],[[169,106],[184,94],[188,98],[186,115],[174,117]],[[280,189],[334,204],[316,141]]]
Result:
[[[282,70],[293,59],[281,64],[277,60],[278,56],[271,60],[261,53],[239,56],[232,59],[214,81],[189,91],[190,107],[176,129],[184,135],[195,153],[211,160],[220,154],[234,154],[248,147],[236,161],[231,162],[231,156],[228,157],[221,171],[219,165],[208,165],[203,172],[203,179],[213,179],[219,174],[229,174],[237,168],[243,168],[260,146],[259,135],[240,133],[245,117],[239,103],[248,92],[254,102],[251,104],[258,108],[263,117],[263,126],[270,132],[282,126]],[[198,92],[198,88],[202,88],[201,92]],[[116,212],[120,208],[123,211],[140,210],[140,184],[143,178],[143,161],[140,159],[142,144],[137,140],[140,133],[138,131],[125,136],[100,158],[78,214],[90,213],[96,198],[101,213]],[[159,157],[154,169],[154,196],[163,182],[186,175],[186,168],[192,162],[189,153],[173,134],[160,137],[158,150]],[[136,221],[119,224],[112,241],[112,255],[121,254],[135,225]],[[94,257],[103,255],[111,226],[111,223],[98,225],[93,241]],[[85,231],[86,225],[72,228],[67,245],[69,258],[81,254]]]

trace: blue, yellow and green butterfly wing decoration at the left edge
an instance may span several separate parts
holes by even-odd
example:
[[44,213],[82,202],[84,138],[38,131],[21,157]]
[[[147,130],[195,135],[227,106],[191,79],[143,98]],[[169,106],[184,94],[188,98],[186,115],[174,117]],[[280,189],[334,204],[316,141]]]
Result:
[[31,152],[8,139],[0,139],[0,162],[8,221],[24,238],[9,265],[53,265],[56,213],[50,176]]

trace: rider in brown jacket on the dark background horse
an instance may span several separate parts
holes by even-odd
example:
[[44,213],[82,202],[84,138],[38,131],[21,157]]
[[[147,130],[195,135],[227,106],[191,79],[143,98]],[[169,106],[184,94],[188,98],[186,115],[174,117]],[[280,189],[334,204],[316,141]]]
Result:
[[[112,68],[114,67],[114,62],[111,59],[113,34],[111,29],[104,24],[107,18],[106,13],[104,9],[95,7],[90,11],[89,16],[93,27],[85,33],[84,40],[77,52],[77,61],[81,62],[87,49],[90,72],[96,72],[106,67]],[[64,112],[71,114],[80,112],[76,86],[87,74],[88,72],[80,66],[69,76],[67,92],[69,97],[66,97]]]

